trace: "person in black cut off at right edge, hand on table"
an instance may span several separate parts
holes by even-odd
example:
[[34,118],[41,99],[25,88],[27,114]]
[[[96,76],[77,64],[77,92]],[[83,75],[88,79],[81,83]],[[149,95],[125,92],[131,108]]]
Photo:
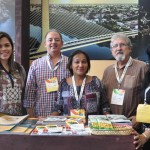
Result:
[[[145,104],[150,105],[150,45],[147,48],[147,55],[149,59],[149,67],[145,75],[145,79],[143,82],[143,91],[141,93],[142,99]],[[142,150],[150,149],[150,124],[143,123],[143,133],[138,134],[135,133],[134,136],[134,144],[136,145],[136,149],[140,146],[143,146]]]

